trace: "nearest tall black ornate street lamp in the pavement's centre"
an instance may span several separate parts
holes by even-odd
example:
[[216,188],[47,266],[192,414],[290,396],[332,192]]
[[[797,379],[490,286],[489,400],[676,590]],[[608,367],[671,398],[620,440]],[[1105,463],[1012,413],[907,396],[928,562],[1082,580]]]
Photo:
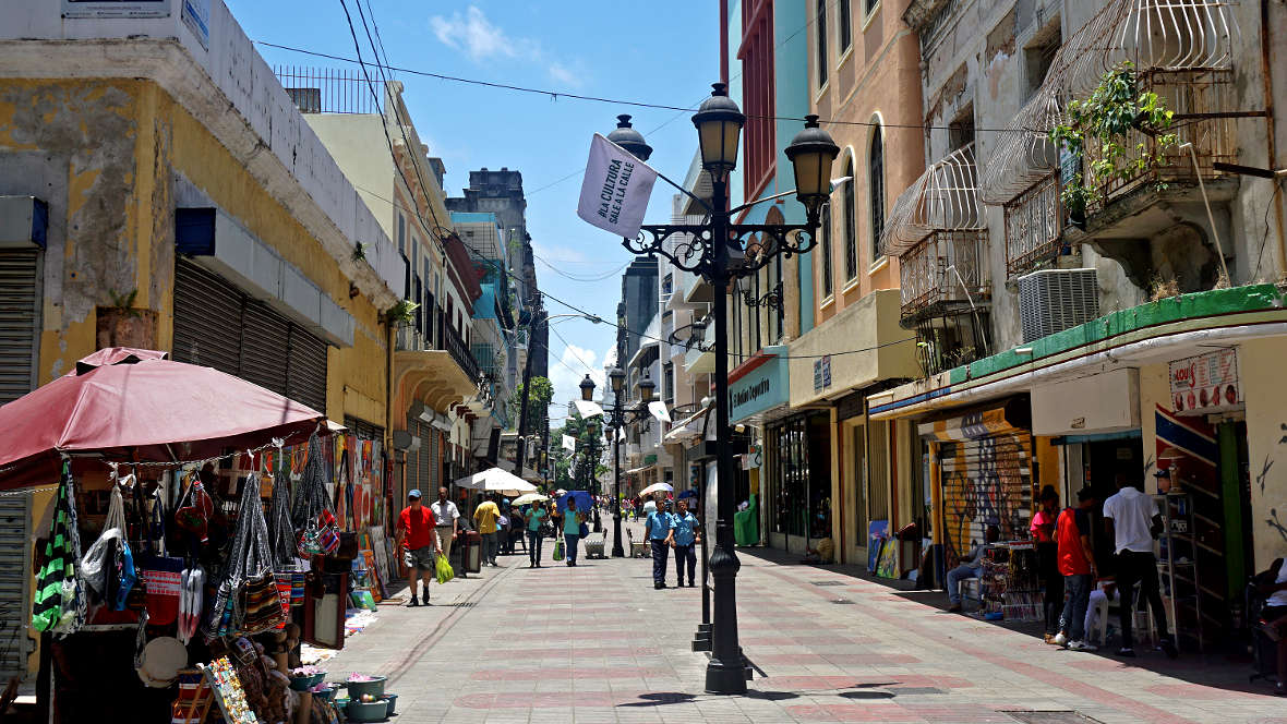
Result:
[[[737,144],[746,117],[728,98],[726,84],[714,84],[708,98],[692,116],[701,148],[701,167],[710,174],[712,194],[705,224],[645,225],[634,239],[624,239],[636,255],[663,256],[674,266],[700,274],[714,288],[716,354],[716,480],[718,487],[716,549],[710,556],[714,579],[714,640],[707,665],[705,691],[740,694],[746,691],[746,662],[737,644],[736,576],[740,563],[734,550],[732,518],[736,512],[732,490],[734,462],[728,435],[728,284],[754,274],[777,255],[804,253],[817,243],[819,219],[830,194],[831,162],[840,149],[817,123],[817,116],[804,117],[804,130],[789,147],[786,157],[795,172],[795,197],[807,212],[804,224],[734,224],[732,215],[758,202],[728,210],[728,174],[737,166]],[[642,140],[642,138],[641,138]],[[700,201],[700,199],[699,199]],[[763,201],[763,199],[761,199]],[[671,237],[682,235],[668,248]],[[746,253],[749,237],[772,239]],[[730,264],[730,252],[737,264]],[[722,485],[721,485],[722,484]]]

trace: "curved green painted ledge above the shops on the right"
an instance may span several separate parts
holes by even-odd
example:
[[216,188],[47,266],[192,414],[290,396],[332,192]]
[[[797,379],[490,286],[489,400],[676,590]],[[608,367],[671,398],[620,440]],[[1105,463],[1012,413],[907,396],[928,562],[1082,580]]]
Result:
[[1019,355],[1014,350],[1006,350],[968,365],[952,368],[947,373],[949,382],[960,385],[1147,327],[1203,316],[1282,309],[1283,306],[1283,294],[1273,284],[1251,284],[1166,297],[1156,302],[1115,311],[1079,327],[1042,337],[1031,345],[1023,345],[1032,347],[1031,355]]

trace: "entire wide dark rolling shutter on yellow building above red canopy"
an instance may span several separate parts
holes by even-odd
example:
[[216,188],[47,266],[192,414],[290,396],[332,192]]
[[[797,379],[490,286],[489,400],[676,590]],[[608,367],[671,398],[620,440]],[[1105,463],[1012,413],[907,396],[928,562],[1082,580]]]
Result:
[[326,412],[327,343],[185,258],[175,262],[172,357]]

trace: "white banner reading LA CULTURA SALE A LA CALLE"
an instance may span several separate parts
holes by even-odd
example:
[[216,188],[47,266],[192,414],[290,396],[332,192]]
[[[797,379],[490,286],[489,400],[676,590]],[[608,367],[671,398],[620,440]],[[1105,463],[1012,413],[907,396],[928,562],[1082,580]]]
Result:
[[656,171],[631,152],[595,134],[586,177],[580,183],[577,216],[605,231],[633,239],[644,224],[655,181]]

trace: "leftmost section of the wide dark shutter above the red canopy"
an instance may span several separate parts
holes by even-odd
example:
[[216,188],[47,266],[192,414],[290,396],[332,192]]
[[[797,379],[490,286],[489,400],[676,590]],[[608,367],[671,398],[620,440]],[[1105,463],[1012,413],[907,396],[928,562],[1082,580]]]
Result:
[[241,372],[242,294],[227,282],[179,258],[174,265],[176,361]]

